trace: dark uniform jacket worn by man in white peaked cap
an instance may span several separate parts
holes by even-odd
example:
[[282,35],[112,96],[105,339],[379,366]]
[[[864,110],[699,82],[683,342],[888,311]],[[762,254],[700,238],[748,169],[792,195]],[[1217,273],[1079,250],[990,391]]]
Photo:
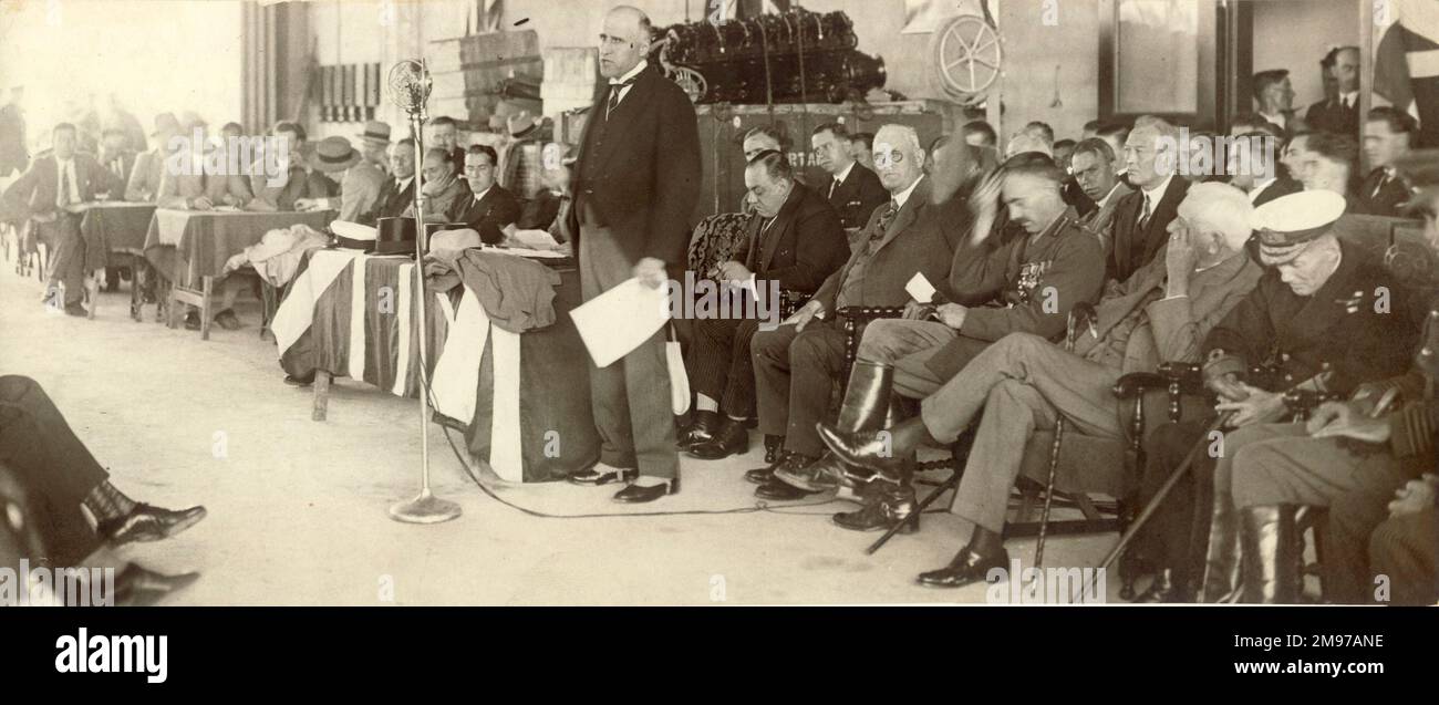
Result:
[[[1274,391],[1333,373],[1330,391],[1350,394],[1364,381],[1409,365],[1417,327],[1412,295],[1379,262],[1340,242],[1338,269],[1311,296],[1299,296],[1268,269],[1255,291],[1204,340],[1204,355],[1222,350],[1245,367],[1276,364]],[[1387,292],[1387,305],[1380,305]]]

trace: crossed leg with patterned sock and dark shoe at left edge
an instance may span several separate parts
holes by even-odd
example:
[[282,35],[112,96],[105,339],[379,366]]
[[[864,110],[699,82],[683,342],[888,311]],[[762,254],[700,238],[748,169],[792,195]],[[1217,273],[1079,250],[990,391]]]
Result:
[[125,496],[29,377],[0,376],[0,463],[35,492],[30,499],[43,509],[40,531],[52,540],[50,558],[58,565],[73,565],[101,544],[170,538],[206,514],[204,506],[171,511]]

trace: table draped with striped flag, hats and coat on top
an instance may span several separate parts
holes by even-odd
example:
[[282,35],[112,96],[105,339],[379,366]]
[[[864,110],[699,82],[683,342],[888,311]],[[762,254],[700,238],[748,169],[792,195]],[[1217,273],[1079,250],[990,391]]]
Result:
[[[449,276],[430,279],[426,301],[436,420],[462,427],[469,453],[509,482],[560,481],[587,468],[600,439],[590,413],[593,363],[570,321],[581,304],[578,272],[481,250],[460,259]],[[553,289],[553,322],[511,315],[515,286],[507,276],[535,272],[557,282],[544,285]],[[307,253],[272,331],[281,367],[315,378],[314,419],[325,416],[331,376],[419,399],[417,281],[409,256]]]

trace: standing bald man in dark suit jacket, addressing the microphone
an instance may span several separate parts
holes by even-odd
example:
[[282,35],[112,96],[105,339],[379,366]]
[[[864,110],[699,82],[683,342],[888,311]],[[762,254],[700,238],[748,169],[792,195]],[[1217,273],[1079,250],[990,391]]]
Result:
[[[645,13],[617,6],[604,16],[600,75],[580,138],[574,209],[566,217],[586,301],[632,278],[658,289],[666,268],[685,262],[689,217],[699,199],[695,108],[649,55]],[[679,453],[671,411],[665,331],[617,363],[590,370],[600,462],[570,476],[580,485],[626,478],[619,502],[650,502],[679,492]]]

